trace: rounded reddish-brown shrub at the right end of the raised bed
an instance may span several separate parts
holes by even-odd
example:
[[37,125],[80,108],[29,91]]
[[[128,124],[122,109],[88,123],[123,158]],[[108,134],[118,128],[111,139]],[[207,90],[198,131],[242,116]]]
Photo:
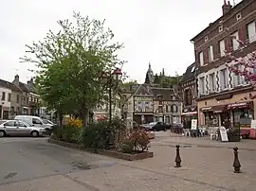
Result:
[[120,144],[123,152],[145,151],[150,143],[149,136],[145,130],[132,131]]

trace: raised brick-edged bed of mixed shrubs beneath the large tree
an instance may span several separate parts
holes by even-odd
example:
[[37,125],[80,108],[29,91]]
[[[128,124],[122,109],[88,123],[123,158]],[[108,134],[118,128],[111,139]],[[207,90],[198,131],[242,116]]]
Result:
[[118,119],[113,119],[111,125],[108,121],[91,123],[86,128],[78,124],[70,122],[62,128],[56,127],[48,142],[128,161],[153,157],[153,152],[147,151],[150,137],[145,130],[134,130],[127,135],[121,133],[126,128]]

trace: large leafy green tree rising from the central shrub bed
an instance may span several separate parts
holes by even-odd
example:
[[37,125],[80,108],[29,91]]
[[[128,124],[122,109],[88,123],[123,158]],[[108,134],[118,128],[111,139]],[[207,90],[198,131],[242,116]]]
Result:
[[102,71],[111,74],[120,67],[117,51],[122,43],[114,42],[113,32],[104,21],[90,20],[74,13],[74,23],[59,21],[58,33],[49,31],[46,38],[27,45],[22,61],[36,63],[37,87],[47,105],[59,113],[80,113],[83,127],[89,111],[94,109],[105,93]]

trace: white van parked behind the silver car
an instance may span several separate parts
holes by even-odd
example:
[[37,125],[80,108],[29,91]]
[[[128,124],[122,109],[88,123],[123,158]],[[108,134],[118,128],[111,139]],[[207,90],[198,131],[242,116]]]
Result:
[[40,118],[39,116],[17,115],[14,117],[14,119],[24,121],[31,126],[44,128],[46,130],[46,133],[49,133],[53,126],[52,124],[44,123],[44,120],[42,118]]

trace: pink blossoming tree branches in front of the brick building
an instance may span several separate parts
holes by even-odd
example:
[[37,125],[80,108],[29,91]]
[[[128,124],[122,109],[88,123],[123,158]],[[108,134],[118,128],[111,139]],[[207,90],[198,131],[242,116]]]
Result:
[[[240,40],[236,41],[239,43],[241,51],[247,47],[244,42]],[[226,56],[230,61],[226,64],[229,71],[233,72],[235,75],[244,77],[245,80],[249,81],[253,87],[256,87],[256,51],[247,54],[247,56],[243,58],[235,58],[231,52],[226,52]]]

